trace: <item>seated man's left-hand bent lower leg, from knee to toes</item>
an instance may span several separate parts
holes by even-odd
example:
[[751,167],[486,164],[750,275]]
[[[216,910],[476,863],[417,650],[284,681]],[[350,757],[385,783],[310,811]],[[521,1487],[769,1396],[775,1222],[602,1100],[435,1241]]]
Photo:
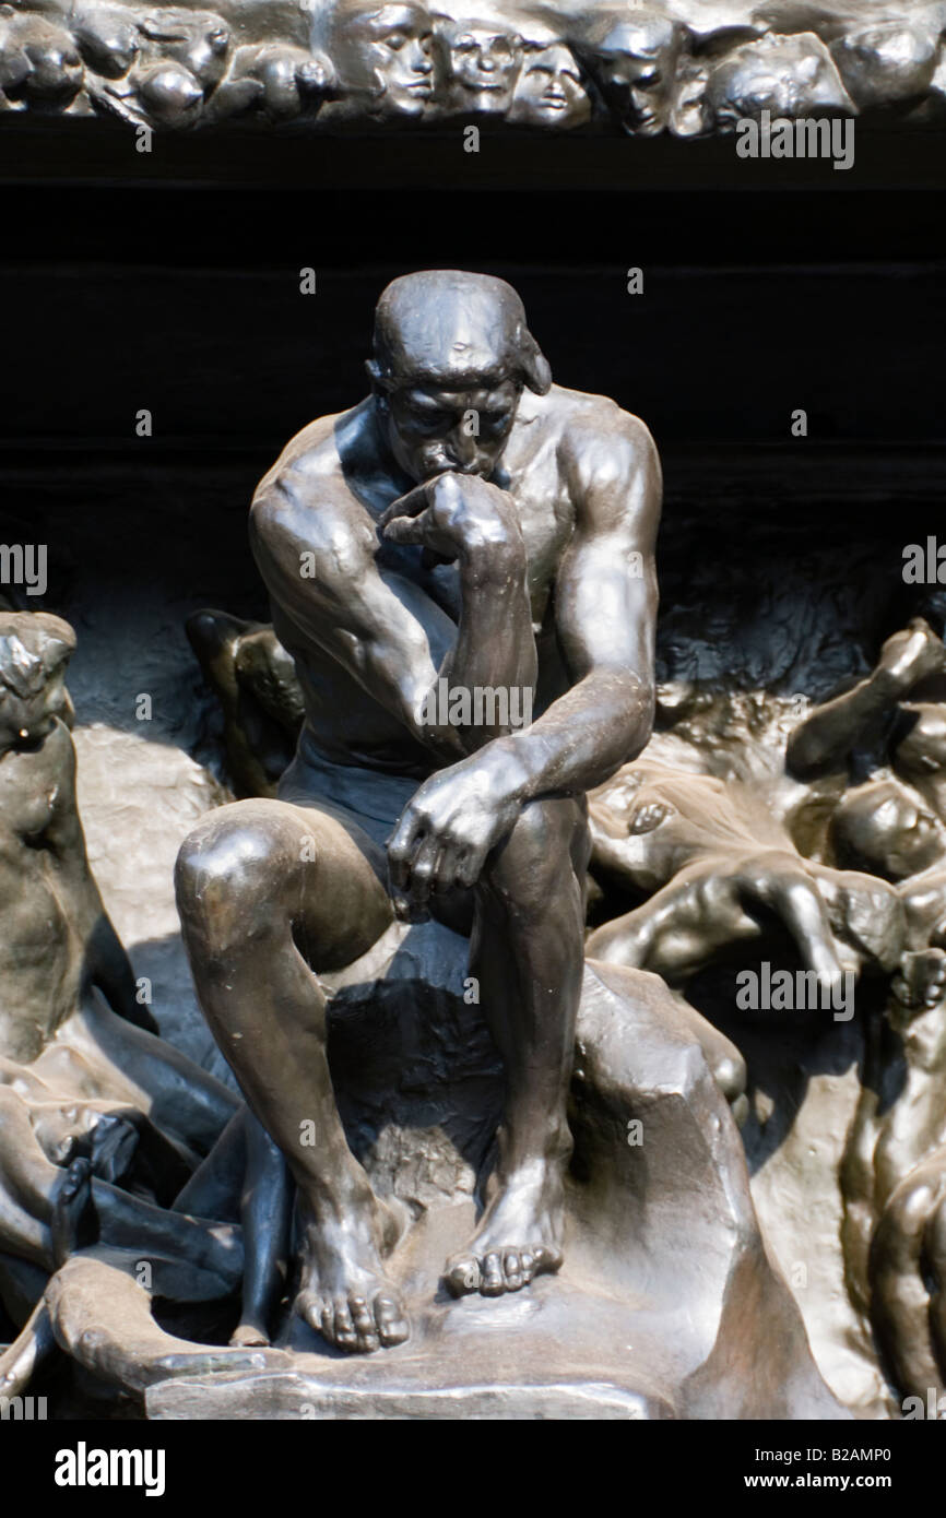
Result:
[[320,814],[240,803],[185,844],[178,902],[210,1028],[298,1187],[296,1310],[345,1350],[401,1342],[407,1328],[381,1264],[395,1219],[348,1146],[325,1053],[325,996],[298,947],[320,962],[339,918],[352,920],[363,940],[372,934],[360,944],[346,935],[357,958],[390,921],[381,885]]

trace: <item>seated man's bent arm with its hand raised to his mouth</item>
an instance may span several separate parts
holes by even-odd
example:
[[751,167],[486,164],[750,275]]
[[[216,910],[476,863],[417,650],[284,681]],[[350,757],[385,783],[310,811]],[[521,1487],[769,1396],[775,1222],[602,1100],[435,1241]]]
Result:
[[[251,512],[254,557],[282,615],[442,764],[463,757],[471,735],[427,720],[425,698],[439,679],[454,688],[534,682],[521,534],[515,528],[512,545],[503,530],[477,540],[483,524],[495,525],[495,498],[503,492],[481,481],[465,486],[457,492],[443,477],[422,487],[440,501],[446,534],[440,546],[453,545],[460,559],[459,628],[412,580],[378,569],[377,531],[339,481],[323,483],[313,510],[311,483],[289,469],[264,483]],[[489,492],[478,513],[477,492]],[[399,521],[389,537],[408,542],[413,522]],[[515,521],[512,512],[504,521]],[[483,732],[478,741],[489,736]]]

